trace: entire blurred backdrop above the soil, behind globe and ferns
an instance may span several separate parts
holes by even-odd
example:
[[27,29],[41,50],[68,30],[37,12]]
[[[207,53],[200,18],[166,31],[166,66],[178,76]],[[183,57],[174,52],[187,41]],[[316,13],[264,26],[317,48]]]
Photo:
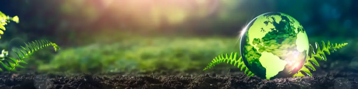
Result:
[[[4,14],[20,18],[20,23],[6,25],[1,48],[39,39],[62,47],[59,52],[38,51],[22,71],[203,73],[218,54],[239,52],[236,42],[243,26],[266,12],[283,12],[300,21],[311,44],[349,43],[328,57],[328,66],[351,62],[358,53],[357,0],[1,0],[0,4]],[[237,68],[222,64],[215,69]]]

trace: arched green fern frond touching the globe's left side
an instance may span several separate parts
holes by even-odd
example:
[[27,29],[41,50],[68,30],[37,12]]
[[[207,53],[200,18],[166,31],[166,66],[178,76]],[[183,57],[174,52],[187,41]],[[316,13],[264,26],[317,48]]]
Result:
[[216,64],[220,64],[220,63],[226,62],[226,63],[228,63],[228,64],[230,63],[231,65],[233,65],[233,66],[235,66],[235,67],[237,67],[237,68],[240,68],[241,71],[242,71],[243,69],[245,69],[245,72],[244,72],[244,73],[245,73],[247,76],[249,76],[249,77],[255,75],[255,74],[253,74],[253,73],[245,66],[245,63],[242,61],[242,57],[240,57],[240,58],[237,59],[237,56],[238,56],[237,52],[235,52],[235,54],[234,54],[234,52],[232,52],[232,53],[230,54],[230,56],[229,56],[228,54],[226,54],[225,56],[224,56],[224,54],[221,54],[221,55],[219,55],[218,57],[215,57],[215,58],[211,61],[211,63],[209,63],[208,66],[206,66],[206,67],[203,69],[203,71],[204,71],[204,70],[207,70],[207,69],[213,68]]

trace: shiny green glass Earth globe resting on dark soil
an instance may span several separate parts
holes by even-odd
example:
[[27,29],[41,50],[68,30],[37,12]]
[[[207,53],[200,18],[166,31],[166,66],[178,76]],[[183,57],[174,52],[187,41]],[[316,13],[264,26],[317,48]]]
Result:
[[305,29],[296,19],[281,12],[257,16],[241,33],[242,61],[263,79],[292,77],[306,62],[308,51]]

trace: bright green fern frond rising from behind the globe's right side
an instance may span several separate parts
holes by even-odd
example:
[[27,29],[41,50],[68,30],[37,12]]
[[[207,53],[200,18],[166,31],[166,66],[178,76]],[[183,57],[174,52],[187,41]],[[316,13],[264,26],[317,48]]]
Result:
[[[333,53],[334,51],[337,51],[337,49],[340,49],[345,45],[348,45],[348,43],[333,44],[330,43],[329,41],[327,43],[321,41],[321,45],[319,45],[317,42],[315,43],[315,45],[316,45],[315,48],[316,51],[314,50],[313,46],[310,44],[309,56],[306,58],[306,62],[304,66],[296,74],[294,74],[293,77],[304,77],[305,75],[302,74],[301,72],[306,73],[307,75],[312,77],[312,74],[309,69],[313,71],[315,71],[316,69],[313,67],[311,63],[319,67],[319,64],[316,59],[319,59],[320,61],[327,61],[325,53],[330,55],[330,52]],[[322,48],[320,48],[320,46]],[[306,67],[308,67],[309,69]]]

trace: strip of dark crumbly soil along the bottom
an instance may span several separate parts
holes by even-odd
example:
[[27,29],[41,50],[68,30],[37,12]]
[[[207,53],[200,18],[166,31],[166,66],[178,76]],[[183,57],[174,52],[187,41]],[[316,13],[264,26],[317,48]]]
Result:
[[[315,73],[320,77],[273,80],[235,75],[137,75],[2,74],[3,89],[357,89],[356,73]],[[323,74],[323,76],[322,76]],[[342,75],[343,74],[343,75]]]

